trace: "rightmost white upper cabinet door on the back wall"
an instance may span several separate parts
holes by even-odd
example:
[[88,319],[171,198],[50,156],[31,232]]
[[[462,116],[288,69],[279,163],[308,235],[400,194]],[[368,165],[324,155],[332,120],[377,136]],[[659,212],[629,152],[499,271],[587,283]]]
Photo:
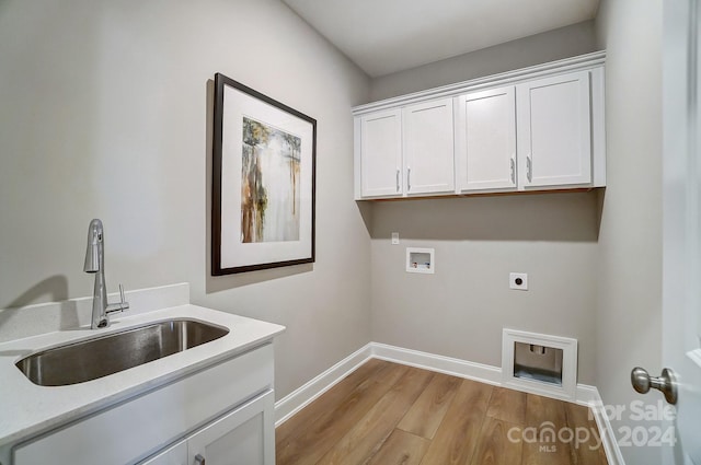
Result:
[[519,187],[591,183],[589,73],[519,84]]

